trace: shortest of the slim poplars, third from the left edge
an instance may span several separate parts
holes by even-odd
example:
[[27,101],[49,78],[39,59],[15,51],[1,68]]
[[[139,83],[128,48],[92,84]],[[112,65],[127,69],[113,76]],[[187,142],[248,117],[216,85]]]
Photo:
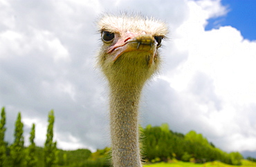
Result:
[[37,164],[37,159],[35,155],[35,124],[32,125],[31,131],[30,131],[30,146],[28,146],[28,157],[27,157],[27,166],[28,167],[33,167],[36,166]]

